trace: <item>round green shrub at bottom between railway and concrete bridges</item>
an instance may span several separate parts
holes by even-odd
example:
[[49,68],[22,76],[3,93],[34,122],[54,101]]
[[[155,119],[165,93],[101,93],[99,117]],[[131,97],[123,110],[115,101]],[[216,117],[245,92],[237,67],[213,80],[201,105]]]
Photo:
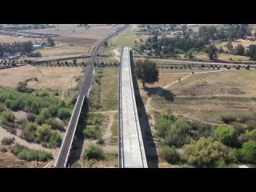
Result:
[[90,145],[88,149],[86,149],[84,154],[84,159],[90,160],[90,159],[96,159],[101,160],[104,159],[104,152],[102,150],[102,147],[96,146],[96,145]]

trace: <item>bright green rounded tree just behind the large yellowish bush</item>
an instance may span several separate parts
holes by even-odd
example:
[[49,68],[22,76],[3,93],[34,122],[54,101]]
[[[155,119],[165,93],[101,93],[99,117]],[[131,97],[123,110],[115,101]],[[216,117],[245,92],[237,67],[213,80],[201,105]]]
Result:
[[214,138],[226,146],[235,146],[238,138],[232,126],[218,126],[213,133]]

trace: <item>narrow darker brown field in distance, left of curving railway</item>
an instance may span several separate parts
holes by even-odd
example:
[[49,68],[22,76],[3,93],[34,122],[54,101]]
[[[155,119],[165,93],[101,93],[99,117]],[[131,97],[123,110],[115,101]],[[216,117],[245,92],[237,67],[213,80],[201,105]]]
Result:
[[[92,38],[76,38],[76,37],[66,37],[66,36],[57,36],[53,38],[56,42],[62,42],[66,44],[74,44],[79,46],[91,45],[96,42],[96,39]],[[47,41],[47,39],[45,39]]]

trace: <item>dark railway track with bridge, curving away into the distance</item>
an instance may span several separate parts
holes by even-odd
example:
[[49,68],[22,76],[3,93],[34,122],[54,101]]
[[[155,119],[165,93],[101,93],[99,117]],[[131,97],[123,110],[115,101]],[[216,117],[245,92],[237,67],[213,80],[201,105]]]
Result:
[[71,146],[74,140],[75,130],[78,126],[78,119],[80,117],[80,113],[82,110],[82,105],[85,98],[88,97],[88,90],[90,89],[91,82],[93,79],[94,62],[96,61],[98,53],[102,49],[103,43],[107,41],[109,38],[112,38],[114,35],[121,33],[126,28],[127,28],[127,25],[119,27],[118,30],[116,30],[113,34],[110,34],[110,36],[108,36],[107,38],[104,38],[101,42],[99,42],[96,48],[94,49],[94,53],[90,58],[89,69],[85,71],[84,78],[78,90],[77,102],[75,103],[74,111],[70,118],[70,122],[66,130],[66,134],[63,139],[62,146],[60,148],[58,158],[57,158],[57,161],[55,162],[54,167],[65,168],[67,166],[67,162],[70,156]]

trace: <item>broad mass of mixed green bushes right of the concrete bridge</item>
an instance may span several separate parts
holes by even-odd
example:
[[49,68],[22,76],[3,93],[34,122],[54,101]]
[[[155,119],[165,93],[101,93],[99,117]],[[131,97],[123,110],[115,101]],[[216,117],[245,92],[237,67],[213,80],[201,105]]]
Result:
[[175,118],[162,112],[154,125],[164,146],[159,155],[167,162],[178,162],[176,148],[183,148],[186,162],[198,167],[237,167],[256,162],[256,114],[223,114],[230,125],[210,126]]

